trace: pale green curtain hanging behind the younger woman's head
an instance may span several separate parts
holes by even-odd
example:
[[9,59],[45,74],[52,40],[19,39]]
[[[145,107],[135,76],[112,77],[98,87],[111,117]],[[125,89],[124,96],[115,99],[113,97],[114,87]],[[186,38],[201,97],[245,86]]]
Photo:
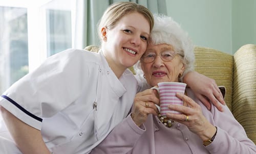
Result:
[[[121,1],[115,0],[76,0],[74,48],[87,45],[100,45],[97,34],[97,23],[109,5]],[[122,1],[125,2],[125,1]],[[126,1],[127,2],[127,1]],[[147,7],[152,13],[167,15],[165,0],[130,0]]]

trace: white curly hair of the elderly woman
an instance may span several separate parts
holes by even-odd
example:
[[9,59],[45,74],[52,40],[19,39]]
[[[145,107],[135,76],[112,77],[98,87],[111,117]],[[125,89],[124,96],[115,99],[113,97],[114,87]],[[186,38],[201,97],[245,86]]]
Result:
[[[194,70],[194,45],[191,42],[188,34],[183,31],[180,25],[173,20],[172,17],[154,14],[155,24],[150,36],[150,43],[152,44],[170,44],[174,47],[174,51],[178,54],[184,55],[181,57],[184,64],[184,72],[179,81],[182,81],[184,74]],[[143,71],[141,70],[140,62],[135,65],[136,74],[143,78]]]

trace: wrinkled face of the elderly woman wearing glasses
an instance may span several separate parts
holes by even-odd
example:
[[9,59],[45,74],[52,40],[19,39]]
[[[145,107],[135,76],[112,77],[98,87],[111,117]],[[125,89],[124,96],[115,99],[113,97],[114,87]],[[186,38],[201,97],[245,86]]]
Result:
[[179,82],[178,76],[183,73],[184,65],[180,55],[173,51],[169,44],[147,45],[141,58],[141,68],[148,84],[156,86],[159,82]]

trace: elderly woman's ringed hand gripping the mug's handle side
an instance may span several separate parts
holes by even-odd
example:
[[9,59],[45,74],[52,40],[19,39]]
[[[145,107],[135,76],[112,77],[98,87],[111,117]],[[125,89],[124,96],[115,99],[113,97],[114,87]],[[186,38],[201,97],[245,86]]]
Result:
[[131,114],[136,125],[140,126],[144,123],[148,114],[158,114],[155,104],[160,104],[156,90],[147,89],[136,94]]

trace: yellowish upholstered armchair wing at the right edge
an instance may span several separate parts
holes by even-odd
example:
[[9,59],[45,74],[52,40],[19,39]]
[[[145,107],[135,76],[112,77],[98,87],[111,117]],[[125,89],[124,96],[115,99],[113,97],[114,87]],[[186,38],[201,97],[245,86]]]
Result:
[[232,113],[256,143],[256,45],[242,46],[233,57]]

